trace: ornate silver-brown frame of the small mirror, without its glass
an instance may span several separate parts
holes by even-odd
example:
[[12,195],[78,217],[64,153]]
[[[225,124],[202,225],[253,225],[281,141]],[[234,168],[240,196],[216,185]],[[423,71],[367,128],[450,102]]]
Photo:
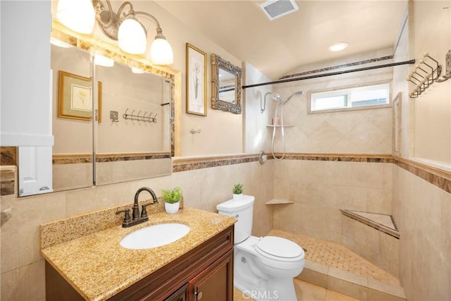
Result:
[[[219,99],[219,68],[235,75],[235,103]],[[217,54],[211,54],[211,109],[240,114],[242,112],[241,80],[242,70],[240,67],[221,59],[221,56]]]

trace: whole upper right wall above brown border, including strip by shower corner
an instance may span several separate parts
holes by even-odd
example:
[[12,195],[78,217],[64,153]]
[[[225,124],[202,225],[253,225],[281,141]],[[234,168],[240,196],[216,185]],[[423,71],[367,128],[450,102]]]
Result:
[[[427,52],[443,66],[451,49],[451,1],[409,2],[407,24],[400,32],[395,59],[423,59]],[[448,7],[448,8],[446,8]],[[431,65],[431,60],[426,59]],[[435,65],[431,65],[435,66]],[[413,65],[394,69],[394,92],[402,93],[402,156],[451,171],[451,81],[434,82],[418,98],[406,81]]]

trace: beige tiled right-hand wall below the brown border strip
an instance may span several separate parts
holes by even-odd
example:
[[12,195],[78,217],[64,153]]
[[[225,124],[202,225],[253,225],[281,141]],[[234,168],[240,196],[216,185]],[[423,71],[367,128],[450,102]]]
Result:
[[393,216],[400,230],[400,281],[407,300],[451,296],[451,195],[393,167]]

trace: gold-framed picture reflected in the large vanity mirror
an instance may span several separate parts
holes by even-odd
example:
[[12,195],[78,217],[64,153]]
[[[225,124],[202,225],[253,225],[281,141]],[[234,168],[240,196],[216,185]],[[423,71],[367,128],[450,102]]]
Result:
[[[98,115],[101,122],[101,82],[97,82]],[[60,70],[58,72],[58,117],[92,119],[92,80]]]

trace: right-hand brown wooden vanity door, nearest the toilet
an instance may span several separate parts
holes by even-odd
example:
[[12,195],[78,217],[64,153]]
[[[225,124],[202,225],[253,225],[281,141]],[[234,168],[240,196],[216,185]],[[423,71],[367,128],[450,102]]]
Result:
[[233,300],[233,250],[188,282],[190,301]]

